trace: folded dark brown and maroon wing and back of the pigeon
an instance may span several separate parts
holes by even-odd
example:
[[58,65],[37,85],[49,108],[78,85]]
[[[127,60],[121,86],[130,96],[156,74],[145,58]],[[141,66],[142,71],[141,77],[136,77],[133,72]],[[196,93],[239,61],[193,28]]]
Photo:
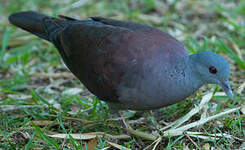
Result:
[[102,100],[118,100],[118,86],[126,73],[132,74],[130,81],[123,81],[125,85],[135,86],[153,64],[186,55],[182,43],[158,29],[111,19],[95,20],[70,23],[54,44],[65,54],[63,59],[68,60],[70,70]]

